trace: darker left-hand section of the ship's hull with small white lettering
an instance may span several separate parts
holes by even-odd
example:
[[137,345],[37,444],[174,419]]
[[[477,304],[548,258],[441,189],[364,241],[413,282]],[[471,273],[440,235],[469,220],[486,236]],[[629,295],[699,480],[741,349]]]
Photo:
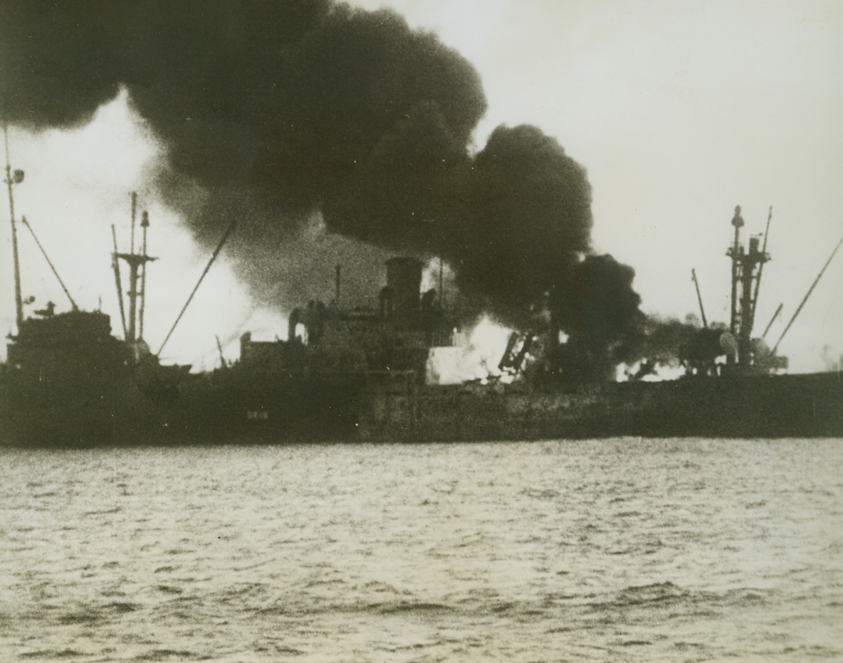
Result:
[[137,375],[46,381],[4,370],[0,444],[78,447],[350,439],[362,393],[356,382],[353,376],[219,372],[184,376],[178,385],[150,388]]

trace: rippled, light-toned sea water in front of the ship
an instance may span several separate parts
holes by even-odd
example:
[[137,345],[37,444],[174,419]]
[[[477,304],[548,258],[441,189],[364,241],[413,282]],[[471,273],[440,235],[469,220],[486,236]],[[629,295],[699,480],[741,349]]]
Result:
[[843,660],[843,440],[0,451],[0,660]]

